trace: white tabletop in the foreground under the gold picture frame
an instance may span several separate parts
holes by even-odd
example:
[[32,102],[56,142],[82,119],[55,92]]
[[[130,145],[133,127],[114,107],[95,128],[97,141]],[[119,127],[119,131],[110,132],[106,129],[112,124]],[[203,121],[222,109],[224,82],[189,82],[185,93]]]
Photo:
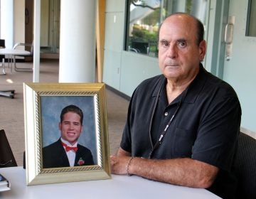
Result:
[[26,171],[22,167],[0,168],[0,173],[11,182],[11,190],[1,192],[0,198],[196,198],[215,199],[217,195],[201,188],[149,181],[138,176],[117,176],[98,181],[26,185]]

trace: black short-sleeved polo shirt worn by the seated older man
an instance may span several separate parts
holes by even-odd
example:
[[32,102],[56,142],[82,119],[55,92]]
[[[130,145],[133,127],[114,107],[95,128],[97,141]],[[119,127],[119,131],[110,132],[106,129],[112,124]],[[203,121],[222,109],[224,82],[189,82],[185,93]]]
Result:
[[[121,148],[132,156],[148,158],[174,112],[175,117],[152,158],[188,157],[217,166],[221,170],[218,178],[223,179],[215,182],[227,182],[221,186],[233,189],[230,169],[240,131],[240,102],[228,83],[211,75],[202,65],[191,85],[171,104],[167,102],[164,75],[144,80],[137,87],[129,104]],[[215,187],[219,185],[214,184],[210,190],[220,195]]]

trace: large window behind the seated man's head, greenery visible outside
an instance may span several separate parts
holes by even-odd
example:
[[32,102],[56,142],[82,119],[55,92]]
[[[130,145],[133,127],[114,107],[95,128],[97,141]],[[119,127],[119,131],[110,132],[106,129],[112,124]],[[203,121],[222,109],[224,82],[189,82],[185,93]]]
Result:
[[127,32],[124,49],[157,57],[161,22],[177,11],[193,14],[206,23],[208,0],[127,0]]

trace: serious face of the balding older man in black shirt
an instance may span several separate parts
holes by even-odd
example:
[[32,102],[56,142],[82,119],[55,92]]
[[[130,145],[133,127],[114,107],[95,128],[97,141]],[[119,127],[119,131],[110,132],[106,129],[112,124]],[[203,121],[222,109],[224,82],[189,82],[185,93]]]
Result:
[[169,80],[185,81],[198,72],[206,42],[198,46],[196,23],[185,15],[166,19],[159,32],[159,68]]

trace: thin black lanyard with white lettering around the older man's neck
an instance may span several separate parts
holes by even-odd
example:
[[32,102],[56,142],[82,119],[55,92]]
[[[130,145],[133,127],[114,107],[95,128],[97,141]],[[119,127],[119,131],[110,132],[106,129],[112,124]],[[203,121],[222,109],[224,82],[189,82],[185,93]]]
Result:
[[[161,92],[161,88],[164,86],[164,80],[161,82],[161,86],[159,88],[159,91],[157,92],[156,95],[156,101],[154,102],[154,107],[153,107],[153,111],[151,114],[151,118],[150,118],[150,123],[149,123],[149,138],[151,140],[152,143],[152,139],[151,139],[151,128],[152,128],[152,122],[153,122],[153,118],[154,118],[154,114],[156,112],[156,106],[159,102],[159,97],[160,97],[160,92]],[[186,96],[188,89],[186,89],[186,92],[184,92],[184,94],[181,96],[181,100],[178,102],[178,106],[174,112],[174,114],[171,116],[171,118],[169,119],[169,122],[166,124],[166,127],[164,128],[164,131],[161,132],[161,135],[159,136],[159,139],[156,141],[156,144],[154,144],[154,146],[152,147],[151,152],[149,153],[149,158],[151,158],[154,154],[154,151],[160,146],[160,144],[162,143],[164,136],[166,135],[166,131],[167,129],[170,127],[171,122],[174,120],[174,117],[176,116],[178,109],[180,109],[181,107],[181,102],[183,101],[183,97]]]

